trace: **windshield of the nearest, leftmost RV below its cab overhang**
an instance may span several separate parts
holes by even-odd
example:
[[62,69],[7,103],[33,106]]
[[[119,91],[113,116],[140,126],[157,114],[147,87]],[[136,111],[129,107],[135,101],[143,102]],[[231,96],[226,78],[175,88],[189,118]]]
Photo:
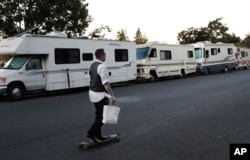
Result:
[[23,67],[24,63],[29,59],[29,56],[15,56],[11,58],[3,67],[3,69],[18,70]]

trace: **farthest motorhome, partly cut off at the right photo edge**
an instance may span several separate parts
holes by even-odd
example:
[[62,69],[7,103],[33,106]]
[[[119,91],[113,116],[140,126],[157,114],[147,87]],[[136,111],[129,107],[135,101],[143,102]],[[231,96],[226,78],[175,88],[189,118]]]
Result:
[[249,69],[250,67],[250,49],[237,48],[236,52],[237,68]]

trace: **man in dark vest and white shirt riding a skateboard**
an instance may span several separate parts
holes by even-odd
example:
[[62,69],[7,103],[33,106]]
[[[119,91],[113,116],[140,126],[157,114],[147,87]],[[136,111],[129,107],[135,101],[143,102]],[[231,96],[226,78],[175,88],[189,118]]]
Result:
[[106,60],[104,49],[97,49],[95,56],[96,61],[91,64],[89,70],[89,98],[95,105],[96,117],[94,123],[88,130],[87,137],[96,143],[100,143],[106,139],[101,133],[101,127],[103,126],[103,106],[109,104],[108,98],[111,98],[111,104],[114,104],[116,102],[116,97],[109,83],[107,67],[103,64]]

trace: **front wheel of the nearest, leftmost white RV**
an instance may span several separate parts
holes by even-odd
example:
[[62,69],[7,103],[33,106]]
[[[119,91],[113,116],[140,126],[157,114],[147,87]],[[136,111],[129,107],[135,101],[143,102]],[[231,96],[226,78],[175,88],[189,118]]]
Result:
[[14,84],[11,85],[7,91],[7,97],[9,100],[18,101],[23,97],[24,88],[22,85]]

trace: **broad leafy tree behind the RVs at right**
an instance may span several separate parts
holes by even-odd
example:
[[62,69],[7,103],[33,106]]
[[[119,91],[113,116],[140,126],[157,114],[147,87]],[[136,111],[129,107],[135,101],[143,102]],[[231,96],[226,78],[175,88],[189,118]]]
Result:
[[193,28],[178,33],[177,39],[180,44],[195,43],[198,41],[211,41],[238,44],[241,39],[234,33],[229,34],[229,28],[221,23],[222,18],[216,18],[208,23],[207,27]]

